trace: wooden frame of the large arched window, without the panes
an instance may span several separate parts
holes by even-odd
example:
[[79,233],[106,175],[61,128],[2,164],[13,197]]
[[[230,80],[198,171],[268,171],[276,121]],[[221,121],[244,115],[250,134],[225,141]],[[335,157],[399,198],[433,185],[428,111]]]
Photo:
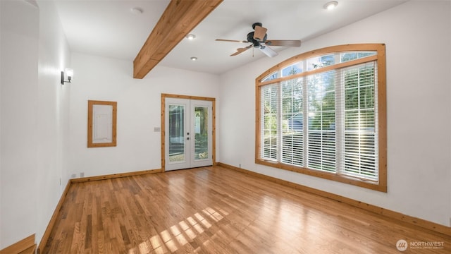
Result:
[[[325,54],[332,54],[338,52],[368,52],[376,51],[377,56],[366,57],[366,59],[356,59],[349,62],[337,63],[333,66],[326,66],[319,70],[304,71],[302,73],[297,73],[290,75],[288,77],[274,78],[272,80],[264,80],[271,73],[281,71],[283,68],[288,67],[299,61],[304,61],[311,59],[315,56],[322,56]],[[265,160],[259,157],[261,150],[261,87],[263,85],[268,85],[272,83],[280,83],[283,80],[290,80],[292,78],[302,77],[305,75],[310,75],[316,72],[323,72],[325,69],[337,69],[342,68],[347,65],[355,65],[360,62],[368,61],[368,59],[376,60],[377,63],[377,102],[378,102],[378,181],[367,181],[366,179],[359,179],[357,177],[347,176],[343,174],[330,173],[326,171],[319,171],[315,169],[308,169],[305,167],[297,167],[290,164],[283,164],[282,162],[274,162]],[[386,138],[386,63],[385,63],[385,44],[345,44],[333,47],[326,47],[323,49],[317,49],[311,52],[306,52],[293,56],[276,66],[269,68],[264,73],[261,73],[259,77],[256,78],[256,122],[255,122],[255,163],[265,165],[268,167],[275,167],[278,169],[295,171],[301,174],[307,174],[309,176],[316,176],[322,179],[328,179],[332,181],[338,181],[341,183],[347,183],[354,186],[359,186],[363,188],[369,188],[375,191],[387,192],[387,138]]]

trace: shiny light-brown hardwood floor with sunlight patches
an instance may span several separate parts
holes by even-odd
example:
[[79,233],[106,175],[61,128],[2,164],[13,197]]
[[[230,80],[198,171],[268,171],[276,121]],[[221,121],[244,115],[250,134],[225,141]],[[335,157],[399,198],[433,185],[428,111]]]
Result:
[[404,253],[451,253],[449,236],[204,167],[73,183],[41,253],[379,254],[402,253],[400,239],[416,245]]

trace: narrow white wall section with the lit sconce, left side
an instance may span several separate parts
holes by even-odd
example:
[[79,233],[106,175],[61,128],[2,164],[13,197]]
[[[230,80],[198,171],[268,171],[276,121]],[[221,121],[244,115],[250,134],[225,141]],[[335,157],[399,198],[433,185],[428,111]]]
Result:
[[53,1],[39,4],[39,83],[37,104],[37,229],[42,238],[63,188],[68,170],[69,92],[61,71],[70,68],[70,51]]

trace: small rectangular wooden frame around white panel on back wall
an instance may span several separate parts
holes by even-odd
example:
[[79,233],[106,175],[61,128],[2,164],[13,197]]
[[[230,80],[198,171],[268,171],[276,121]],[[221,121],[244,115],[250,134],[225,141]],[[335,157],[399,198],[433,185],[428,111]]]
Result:
[[[116,146],[116,121],[117,121],[117,102],[104,102],[98,100],[88,100],[87,102],[87,147],[115,147]],[[95,119],[93,118],[94,105],[112,106],[112,124],[111,124],[111,142],[94,143],[92,140],[93,126]]]

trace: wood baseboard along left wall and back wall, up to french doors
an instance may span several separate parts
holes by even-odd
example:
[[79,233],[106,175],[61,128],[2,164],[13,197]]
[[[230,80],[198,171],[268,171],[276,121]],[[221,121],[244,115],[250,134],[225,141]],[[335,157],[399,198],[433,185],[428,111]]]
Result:
[[[134,172],[128,172],[128,173],[121,173],[121,174],[109,174],[104,176],[89,176],[89,177],[82,177],[78,179],[69,179],[66,188],[63,191],[63,194],[61,194],[61,198],[58,201],[58,204],[55,207],[54,214],[51,215],[51,219],[49,221],[49,224],[47,225],[47,228],[44,231],[44,235],[41,238],[41,241],[39,242],[39,246],[37,247],[37,254],[40,253],[41,250],[44,250],[44,247],[49,241],[51,229],[54,228],[56,217],[58,217],[58,212],[61,210],[61,207],[63,206],[64,199],[66,198],[66,195],[68,194],[70,185],[72,183],[83,183],[83,182],[89,182],[89,181],[99,181],[99,180],[106,180],[106,179],[116,179],[120,177],[126,177],[126,176],[139,176],[143,174],[154,174],[154,173],[160,173],[161,169],[150,169],[150,170],[144,170],[144,171],[134,171]],[[0,253],[3,254],[3,253]]]

